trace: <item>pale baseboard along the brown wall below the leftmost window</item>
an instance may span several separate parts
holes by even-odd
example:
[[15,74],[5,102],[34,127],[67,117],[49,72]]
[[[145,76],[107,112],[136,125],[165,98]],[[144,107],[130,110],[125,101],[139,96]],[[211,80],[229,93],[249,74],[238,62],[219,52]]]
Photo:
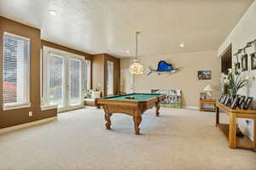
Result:
[[21,124],[21,125],[16,125],[14,127],[2,128],[2,129],[0,129],[0,134],[13,132],[13,131],[16,131],[16,130],[20,130],[22,128],[35,127],[35,126],[38,126],[38,125],[41,125],[41,124],[44,124],[44,123],[47,123],[47,122],[52,122],[52,121],[55,121],[55,120],[57,120],[57,116],[49,117],[49,118],[42,119],[42,120],[35,121],[35,122],[27,122],[27,123],[24,123],[24,124]]

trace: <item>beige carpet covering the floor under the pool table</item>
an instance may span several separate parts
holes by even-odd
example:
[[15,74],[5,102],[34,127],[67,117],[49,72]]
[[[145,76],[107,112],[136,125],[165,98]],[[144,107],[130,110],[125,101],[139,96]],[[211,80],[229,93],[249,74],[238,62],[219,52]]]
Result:
[[57,122],[0,136],[0,170],[255,170],[251,150],[230,150],[214,126],[214,114],[185,109],[143,115],[143,135],[131,116],[103,126],[94,108],[62,113]]

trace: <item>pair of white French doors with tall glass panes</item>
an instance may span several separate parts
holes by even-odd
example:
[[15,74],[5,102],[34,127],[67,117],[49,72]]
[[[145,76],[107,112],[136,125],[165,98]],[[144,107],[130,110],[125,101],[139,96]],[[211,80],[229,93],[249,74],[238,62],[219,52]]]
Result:
[[81,108],[84,59],[72,54],[54,52],[49,52],[46,58],[45,100],[58,105],[58,111]]

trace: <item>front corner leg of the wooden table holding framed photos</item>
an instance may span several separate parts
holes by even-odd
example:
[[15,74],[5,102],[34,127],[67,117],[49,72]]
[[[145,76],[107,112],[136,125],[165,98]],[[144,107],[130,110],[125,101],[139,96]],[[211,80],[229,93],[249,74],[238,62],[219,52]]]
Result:
[[236,114],[230,113],[230,136],[229,143],[231,149],[236,149]]

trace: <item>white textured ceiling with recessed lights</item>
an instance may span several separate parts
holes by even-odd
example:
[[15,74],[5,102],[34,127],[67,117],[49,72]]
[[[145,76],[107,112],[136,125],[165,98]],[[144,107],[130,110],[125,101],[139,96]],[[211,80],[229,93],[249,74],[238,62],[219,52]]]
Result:
[[[90,54],[133,56],[217,49],[253,0],[0,0],[0,14],[42,39]],[[49,14],[55,10],[55,16]],[[184,42],[185,47],[179,44]],[[126,51],[131,51],[126,54]]]

